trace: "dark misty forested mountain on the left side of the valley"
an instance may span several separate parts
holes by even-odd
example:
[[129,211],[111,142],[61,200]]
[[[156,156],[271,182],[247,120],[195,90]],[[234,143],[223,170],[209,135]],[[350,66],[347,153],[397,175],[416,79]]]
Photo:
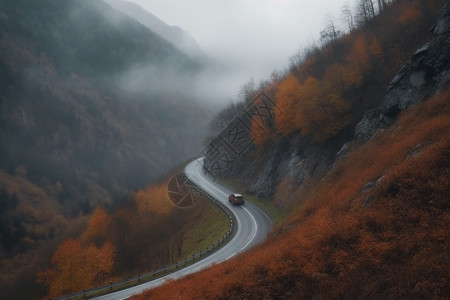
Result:
[[1,1],[2,294],[39,295],[31,277],[58,240],[198,153],[201,68],[102,1]]

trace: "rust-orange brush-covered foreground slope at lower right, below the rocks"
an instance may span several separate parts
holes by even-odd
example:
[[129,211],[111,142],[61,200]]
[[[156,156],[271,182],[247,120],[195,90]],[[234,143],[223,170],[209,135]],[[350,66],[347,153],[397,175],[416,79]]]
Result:
[[135,299],[446,299],[449,100],[355,147],[262,247]]

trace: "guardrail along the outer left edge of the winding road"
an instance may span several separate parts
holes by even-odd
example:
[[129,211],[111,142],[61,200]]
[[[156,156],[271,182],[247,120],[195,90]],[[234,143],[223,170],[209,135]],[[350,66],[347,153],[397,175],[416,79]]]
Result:
[[215,205],[217,205],[220,209],[222,209],[225,214],[229,218],[229,228],[227,233],[217,242],[212,243],[209,245],[206,249],[200,250],[199,252],[193,254],[190,257],[187,257],[185,259],[182,259],[180,261],[177,261],[176,263],[165,266],[163,268],[151,271],[149,273],[145,273],[136,277],[133,277],[131,279],[119,281],[119,282],[111,282],[108,285],[104,285],[97,288],[87,289],[82,292],[78,292],[75,294],[70,294],[66,296],[62,296],[59,298],[55,298],[58,300],[77,300],[77,299],[89,299],[93,297],[98,297],[101,295],[117,292],[120,290],[124,290],[126,288],[137,286],[146,282],[150,282],[152,280],[164,277],[165,275],[168,275],[170,273],[174,273],[175,271],[178,271],[179,269],[183,269],[189,265],[192,265],[201,259],[204,259],[205,257],[213,254],[217,250],[219,250],[223,245],[225,245],[234,235],[236,232],[236,222],[234,214],[231,212],[231,210],[223,204],[221,201],[214,198],[210,193],[203,190],[201,187],[199,187],[197,184],[192,182],[184,172],[180,172],[180,175],[186,180],[185,182],[189,184],[189,186],[193,189],[196,189],[198,192],[203,194],[206,198],[211,200]]

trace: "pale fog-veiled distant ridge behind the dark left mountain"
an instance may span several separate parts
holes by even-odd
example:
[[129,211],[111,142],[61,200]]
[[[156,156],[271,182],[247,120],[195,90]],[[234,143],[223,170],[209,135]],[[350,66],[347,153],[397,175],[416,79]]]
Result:
[[190,57],[201,58],[205,55],[195,39],[186,31],[178,26],[167,25],[139,5],[122,0],[105,0],[105,2],[127,16],[136,19]]

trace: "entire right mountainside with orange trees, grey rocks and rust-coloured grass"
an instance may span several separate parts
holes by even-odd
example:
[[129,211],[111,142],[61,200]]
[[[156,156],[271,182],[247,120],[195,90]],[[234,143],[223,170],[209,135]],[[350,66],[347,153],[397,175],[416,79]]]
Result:
[[133,299],[447,299],[449,28],[448,1],[393,1],[249,93],[206,169],[288,218]]

